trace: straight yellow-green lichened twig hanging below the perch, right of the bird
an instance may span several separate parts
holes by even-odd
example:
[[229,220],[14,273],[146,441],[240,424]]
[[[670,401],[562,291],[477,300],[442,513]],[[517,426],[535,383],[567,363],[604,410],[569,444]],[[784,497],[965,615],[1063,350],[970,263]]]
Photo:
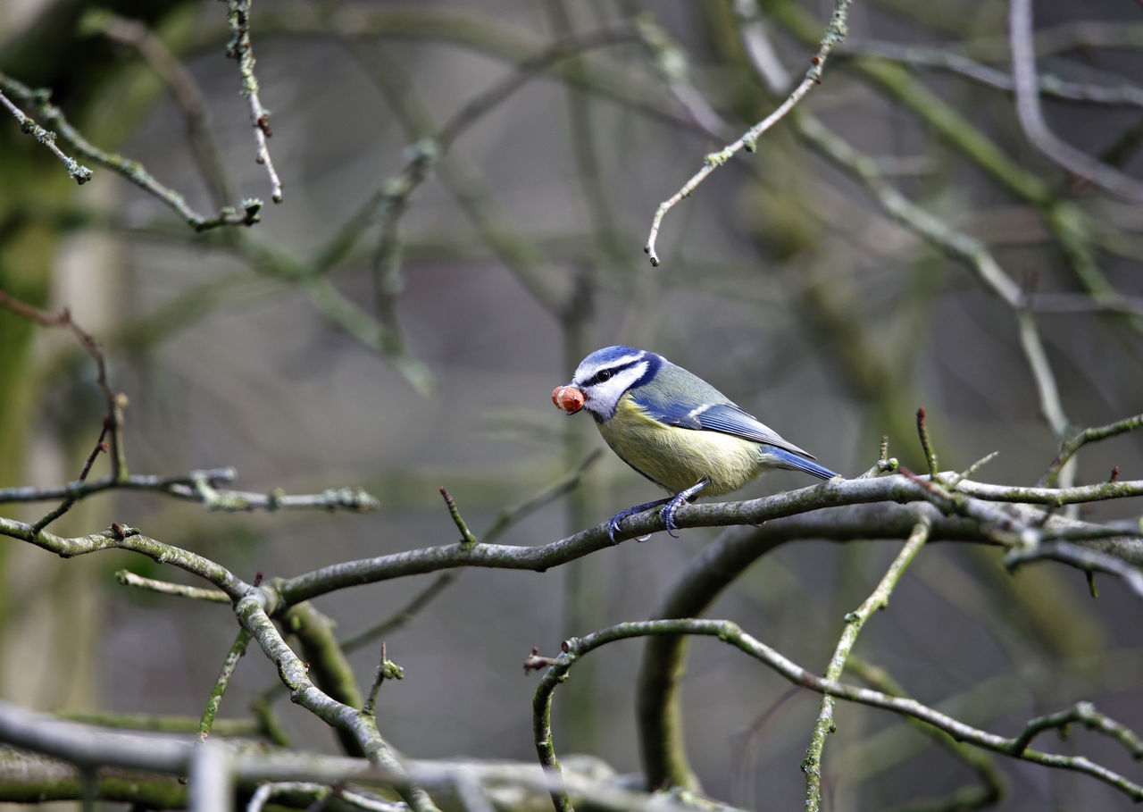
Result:
[[[830,658],[830,664],[825,669],[826,679],[838,680],[841,678],[862,627],[874,612],[889,605],[889,596],[896,588],[897,581],[901,580],[910,563],[920,552],[921,546],[928,540],[928,523],[924,519],[918,522],[912,533],[909,534],[905,546],[901,548],[901,552],[881,576],[877,588],[856,611],[846,614],[845,629],[833,650],[833,656]],[[822,753],[825,749],[825,738],[833,729],[833,696],[830,693],[823,693],[821,709],[817,711],[817,722],[814,724],[814,734],[810,738],[809,748],[806,750],[806,758],[801,763],[801,770],[806,773],[806,812],[817,812],[822,807]]]

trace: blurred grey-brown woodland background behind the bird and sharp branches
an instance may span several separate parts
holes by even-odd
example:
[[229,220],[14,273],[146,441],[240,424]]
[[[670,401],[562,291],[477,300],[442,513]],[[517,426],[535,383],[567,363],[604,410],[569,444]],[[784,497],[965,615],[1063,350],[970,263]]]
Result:
[[[58,533],[118,520],[247,580],[289,576],[454,542],[443,486],[479,535],[602,445],[590,419],[566,417],[549,396],[580,358],[612,343],[668,356],[846,476],[873,464],[882,435],[890,455],[922,469],[918,406],[943,469],[997,451],[976,478],[1033,484],[1055,456],[1061,427],[1044,416],[1042,374],[1013,309],[965,262],[890,218],[804,124],[777,125],[672,209],[662,265],[647,262],[656,206],[789,90],[769,89],[751,48],[769,46],[800,79],[831,3],[265,0],[251,38],[281,205],[254,160],[238,65],[225,56],[225,6],[101,9],[9,0],[0,71],[49,88],[91,143],[139,161],[203,216],[258,197],[262,222],[197,233],[89,160],[95,178],[77,188],[7,120],[0,288],[71,308],[105,348],[112,387],[130,399],[133,472],[234,465],[240,488],[361,486],[381,509],[227,515],[105,494],[77,505]],[[1140,7],[1038,2],[1034,11],[1049,89],[1118,94],[1094,103],[1094,91],[1046,93],[1048,126],[1138,176]],[[1046,158],[1010,89],[950,69],[960,57],[1009,75],[1007,14],[992,0],[856,3],[844,50],[799,114],[868,157],[878,183],[943,229],[981,241],[1028,294],[1071,433],[1143,411],[1143,208]],[[189,137],[186,102],[139,45],[151,38],[201,93],[209,137]],[[201,157],[211,140],[221,165]],[[0,487],[75,478],[103,404],[73,337],[0,311]],[[1092,446],[1076,480],[1102,481],[1114,465],[1141,478],[1141,451],[1132,436]],[[742,496],[806,484],[776,472]],[[498,540],[542,544],[658,495],[605,454],[570,495]],[[2,510],[32,522],[49,507]],[[536,677],[520,669],[531,646],[554,654],[568,636],[648,618],[714,535],[656,535],[543,574],[462,573],[386,637],[406,678],[382,691],[382,733],[417,757],[534,759]],[[789,544],[710,614],[822,670],[844,614],[896,549]],[[201,713],[234,634],[226,610],[131,591],[112,578],[123,567],[181,580],[127,554],[61,562],[0,544],[0,695],[49,710]],[[431,579],[317,604],[350,636]],[[1078,700],[1140,730],[1138,605],[1117,582],[1098,586],[1093,600],[1077,572],[1038,565],[1013,576],[998,552],[934,544],[857,653],[919,699],[1006,735]],[[640,651],[610,646],[577,667],[555,700],[558,751],[639,770]],[[353,654],[366,685],[376,661],[376,645]],[[251,652],[222,715],[247,715],[275,678]],[[693,644],[687,680],[689,753],[706,790],[745,807],[799,804],[818,698],[714,642]],[[296,745],[335,750],[322,723],[287,701],[279,711]],[[887,809],[978,780],[895,717],[844,706],[837,718],[824,761],[833,810]],[[1042,746],[1132,774],[1120,748],[1082,731]],[[997,766],[1008,787],[1000,809],[1127,807],[1084,777]]]

